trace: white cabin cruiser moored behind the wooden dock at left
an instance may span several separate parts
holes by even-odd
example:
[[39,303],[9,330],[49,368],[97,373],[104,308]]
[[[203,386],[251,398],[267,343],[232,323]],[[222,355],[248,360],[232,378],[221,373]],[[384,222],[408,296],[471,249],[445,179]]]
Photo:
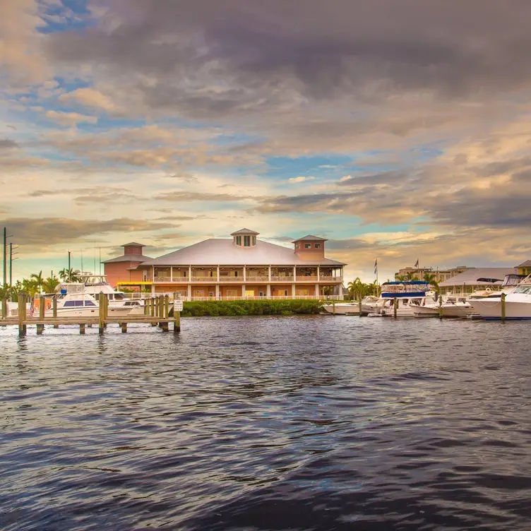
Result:
[[[83,282],[68,282],[67,289],[56,294],[58,317],[96,317],[100,313],[100,306],[93,295],[85,292]],[[108,316],[126,316],[131,313],[131,307],[108,308]],[[45,317],[53,317],[52,307],[44,311]]]

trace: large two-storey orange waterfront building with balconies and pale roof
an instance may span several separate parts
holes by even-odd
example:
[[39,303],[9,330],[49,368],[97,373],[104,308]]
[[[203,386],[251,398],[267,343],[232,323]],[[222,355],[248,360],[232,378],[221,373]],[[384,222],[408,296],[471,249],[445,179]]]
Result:
[[145,259],[136,266],[135,280],[117,285],[146,285],[154,294],[179,292],[189,300],[342,297],[345,264],[325,257],[326,239],[308,235],[290,249],[262,241],[249,229],[231,236]]

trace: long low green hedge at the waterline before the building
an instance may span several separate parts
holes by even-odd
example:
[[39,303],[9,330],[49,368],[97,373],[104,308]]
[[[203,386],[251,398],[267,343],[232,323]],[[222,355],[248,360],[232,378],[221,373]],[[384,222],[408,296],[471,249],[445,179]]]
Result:
[[318,314],[322,304],[305,299],[184,302],[181,316]]

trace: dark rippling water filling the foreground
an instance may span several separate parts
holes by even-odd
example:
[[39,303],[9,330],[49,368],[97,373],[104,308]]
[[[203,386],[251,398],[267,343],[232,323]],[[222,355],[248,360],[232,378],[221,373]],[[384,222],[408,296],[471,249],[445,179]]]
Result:
[[0,330],[3,530],[529,530],[529,323]]

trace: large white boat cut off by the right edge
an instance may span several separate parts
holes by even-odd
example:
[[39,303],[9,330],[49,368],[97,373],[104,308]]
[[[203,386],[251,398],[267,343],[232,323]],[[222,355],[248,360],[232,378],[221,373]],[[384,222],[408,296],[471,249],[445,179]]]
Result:
[[[470,304],[484,319],[501,319],[501,295],[472,299]],[[531,275],[527,275],[517,287],[506,294],[505,316],[510,320],[531,319]]]

